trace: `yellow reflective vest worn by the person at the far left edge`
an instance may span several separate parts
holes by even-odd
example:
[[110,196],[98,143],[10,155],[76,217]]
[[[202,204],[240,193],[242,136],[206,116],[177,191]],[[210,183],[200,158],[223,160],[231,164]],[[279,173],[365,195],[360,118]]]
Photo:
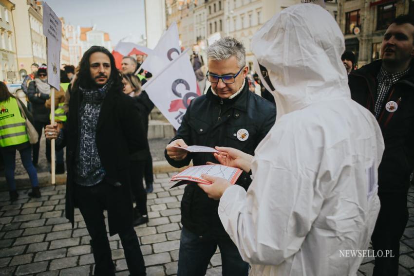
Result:
[[21,116],[17,100],[10,97],[0,102],[0,147],[20,145],[29,142],[26,121]]

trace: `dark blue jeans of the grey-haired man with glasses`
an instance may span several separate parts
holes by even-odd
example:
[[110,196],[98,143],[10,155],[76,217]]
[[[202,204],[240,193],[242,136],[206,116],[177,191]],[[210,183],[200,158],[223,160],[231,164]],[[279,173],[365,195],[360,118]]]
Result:
[[199,236],[183,227],[177,276],[205,276],[210,258],[220,248],[223,276],[247,276],[249,265],[229,237]]

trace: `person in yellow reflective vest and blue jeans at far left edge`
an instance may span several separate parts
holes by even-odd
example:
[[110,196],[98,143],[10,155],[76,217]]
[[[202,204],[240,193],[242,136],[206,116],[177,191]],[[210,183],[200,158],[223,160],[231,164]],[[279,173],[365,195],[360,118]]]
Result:
[[[17,101],[7,89],[7,86],[0,82],[0,150],[4,159],[4,172],[6,181],[9,185],[10,201],[15,201],[19,197],[16,191],[14,171],[16,167],[16,150],[19,150],[21,162],[29,174],[32,184],[32,192],[29,197],[39,198],[38,173],[32,163],[32,147],[29,137],[26,134],[26,120],[21,115]],[[20,102],[23,112],[32,122],[30,112]]]

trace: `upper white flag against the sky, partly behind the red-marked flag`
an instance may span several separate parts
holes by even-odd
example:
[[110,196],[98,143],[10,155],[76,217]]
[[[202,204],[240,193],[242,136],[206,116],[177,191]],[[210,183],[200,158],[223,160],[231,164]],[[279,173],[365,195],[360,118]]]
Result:
[[157,75],[178,55],[180,55],[180,39],[177,24],[173,22],[140,68]]

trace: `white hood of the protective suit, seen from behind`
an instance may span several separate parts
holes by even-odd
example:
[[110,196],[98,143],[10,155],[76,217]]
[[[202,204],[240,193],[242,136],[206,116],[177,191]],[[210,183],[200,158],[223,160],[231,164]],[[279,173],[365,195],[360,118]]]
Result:
[[274,87],[270,92],[278,109],[276,119],[321,99],[351,97],[340,59],[344,38],[322,7],[299,4],[282,10],[253,36],[251,46]]

